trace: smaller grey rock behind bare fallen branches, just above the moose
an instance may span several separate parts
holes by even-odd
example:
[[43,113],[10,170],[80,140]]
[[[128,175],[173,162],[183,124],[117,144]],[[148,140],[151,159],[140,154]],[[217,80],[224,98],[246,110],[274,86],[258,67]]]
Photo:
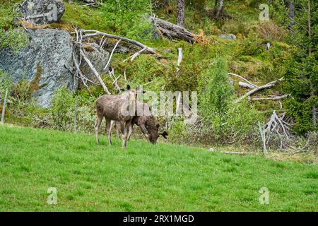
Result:
[[[108,66],[107,69],[104,70],[108,59],[110,58],[110,53],[107,52],[105,49],[102,49],[98,44],[90,43],[88,45],[88,48],[83,48],[86,56],[88,59],[90,59],[90,62],[95,67],[96,71],[101,75],[102,73],[107,73],[110,69],[110,66]],[[86,75],[90,80],[93,80],[98,83],[98,79],[96,78],[93,71],[90,69],[88,64],[86,64],[85,61],[83,61],[83,64],[81,66],[81,71]]]

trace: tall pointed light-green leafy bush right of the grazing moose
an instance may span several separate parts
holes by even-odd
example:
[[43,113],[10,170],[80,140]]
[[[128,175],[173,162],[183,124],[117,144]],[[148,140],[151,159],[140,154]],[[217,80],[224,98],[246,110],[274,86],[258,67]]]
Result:
[[[254,134],[261,114],[247,102],[233,103],[234,90],[228,79],[224,59],[217,57],[211,69],[201,77],[199,111],[205,133],[216,139],[245,139]],[[211,136],[211,135],[210,135]]]

